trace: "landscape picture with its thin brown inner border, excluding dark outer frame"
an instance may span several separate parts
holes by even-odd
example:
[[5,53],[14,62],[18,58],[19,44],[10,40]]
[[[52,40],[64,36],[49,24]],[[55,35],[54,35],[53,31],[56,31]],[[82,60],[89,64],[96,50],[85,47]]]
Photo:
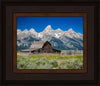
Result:
[[87,13],[15,13],[13,16],[15,73],[87,72]]

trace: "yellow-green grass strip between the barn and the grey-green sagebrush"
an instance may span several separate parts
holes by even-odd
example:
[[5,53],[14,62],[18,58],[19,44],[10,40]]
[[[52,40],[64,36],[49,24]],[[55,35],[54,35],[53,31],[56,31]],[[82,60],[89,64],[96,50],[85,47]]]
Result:
[[57,59],[58,63],[61,63],[62,61],[65,61],[66,59],[75,61],[78,59],[82,59],[82,55],[61,55],[61,54],[52,54],[52,53],[43,53],[43,54],[32,54],[29,56],[21,56],[20,53],[17,53],[17,57],[27,57],[27,58],[41,58],[46,57],[48,59]]

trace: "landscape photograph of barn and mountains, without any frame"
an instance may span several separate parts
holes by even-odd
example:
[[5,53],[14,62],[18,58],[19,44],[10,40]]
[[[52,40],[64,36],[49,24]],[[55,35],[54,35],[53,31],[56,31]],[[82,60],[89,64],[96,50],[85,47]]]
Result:
[[17,17],[17,69],[83,69],[83,17]]

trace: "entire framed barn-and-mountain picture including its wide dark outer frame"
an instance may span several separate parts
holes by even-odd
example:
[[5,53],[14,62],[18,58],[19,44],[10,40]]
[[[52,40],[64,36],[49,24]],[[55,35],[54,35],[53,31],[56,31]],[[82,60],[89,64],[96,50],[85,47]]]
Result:
[[96,2],[2,2],[3,83],[96,84],[97,8]]

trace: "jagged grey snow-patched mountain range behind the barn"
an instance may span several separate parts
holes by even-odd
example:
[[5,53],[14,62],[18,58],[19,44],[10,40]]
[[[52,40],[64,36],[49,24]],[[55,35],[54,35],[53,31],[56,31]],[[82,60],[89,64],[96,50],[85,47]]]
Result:
[[27,49],[34,41],[49,41],[52,47],[59,50],[83,50],[83,34],[76,33],[70,28],[63,31],[53,30],[48,25],[42,32],[37,33],[34,28],[21,31],[17,29],[17,50]]

